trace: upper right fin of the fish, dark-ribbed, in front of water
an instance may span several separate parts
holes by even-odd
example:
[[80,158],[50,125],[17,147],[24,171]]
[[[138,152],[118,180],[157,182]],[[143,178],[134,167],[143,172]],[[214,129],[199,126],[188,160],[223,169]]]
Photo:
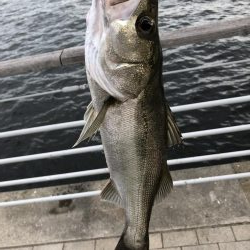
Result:
[[182,135],[168,104],[166,104],[166,110],[167,110],[167,126],[168,126],[167,142],[168,142],[168,147],[172,147],[182,143]]

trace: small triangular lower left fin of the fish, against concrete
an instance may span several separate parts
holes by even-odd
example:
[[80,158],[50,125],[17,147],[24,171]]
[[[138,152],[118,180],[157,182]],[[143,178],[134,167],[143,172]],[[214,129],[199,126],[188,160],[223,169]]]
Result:
[[101,192],[101,199],[122,207],[122,199],[114,182],[110,179]]

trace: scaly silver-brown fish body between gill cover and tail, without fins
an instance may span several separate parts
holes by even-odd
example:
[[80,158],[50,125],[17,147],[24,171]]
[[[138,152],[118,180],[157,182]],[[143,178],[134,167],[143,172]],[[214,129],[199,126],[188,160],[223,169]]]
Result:
[[161,92],[148,96],[143,91],[136,99],[110,107],[101,127],[110,178],[126,212],[127,237],[134,240],[148,235],[154,198],[166,166],[164,105]]

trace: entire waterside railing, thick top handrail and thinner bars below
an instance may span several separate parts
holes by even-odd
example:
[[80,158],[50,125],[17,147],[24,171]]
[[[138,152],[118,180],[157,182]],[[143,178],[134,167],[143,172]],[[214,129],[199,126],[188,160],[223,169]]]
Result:
[[[216,40],[220,38],[227,38],[227,37],[231,37],[234,35],[248,35],[248,34],[250,34],[250,17],[238,19],[238,20],[220,21],[216,23],[216,25],[208,24],[208,25],[200,26],[200,27],[185,28],[182,30],[169,32],[168,34],[162,34],[161,38],[162,38],[163,47],[169,48],[169,47],[174,47],[174,46],[187,45],[191,43],[211,41],[211,40]],[[84,48],[75,47],[75,48],[69,48],[65,50],[59,50],[59,51],[52,52],[52,53],[46,53],[46,54],[41,54],[37,56],[31,56],[31,57],[26,57],[26,58],[21,58],[21,59],[16,59],[16,60],[0,62],[0,76],[15,75],[15,74],[27,73],[30,71],[40,71],[43,69],[48,69],[48,68],[53,68],[53,67],[61,67],[61,66],[66,66],[70,64],[83,63],[83,57],[84,57]],[[220,67],[220,66],[230,66],[233,64],[248,63],[249,61],[250,61],[249,59],[245,59],[245,60],[228,62],[228,63],[214,63],[214,64],[203,65],[203,66],[190,68],[190,69],[175,70],[172,72],[167,72],[165,74],[170,75],[170,74],[184,73],[184,72],[190,72],[194,70],[203,70],[207,68],[214,68],[214,67]],[[14,101],[14,100],[17,100],[18,98],[19,99],[20,98],[21,99],[33,98],[37,96],[50,95],[50,94],[56,94],[56,93],[62,93],[62,92],[69,93],[73,91],[78,91],[82,88],[86,88],[86,85],[84,87],[73,86],[73,87],[66,87],[61,90],[47,91],[44,93],[37,93],[37,94],[26,95],[22,97],[12,97],[12,98],[2,100],[2,102]],[[222,105],[245,103],[249,101],[250,101],[250,95],[242,96],[242,97],[227,98],[227,99],[222,99],[222,100],[201,102],[201,103],[195,103],[195,104],[181,105],[177,107],[172,107],[172,110],[173,112],[184,112],[184,111],[189,111],[189,110],[211,108],[211,107],[222,106]],[[8,137],[13,137],[13,136],[21,136],[21,135],[34,134],[34,133],[42,133],[42,132],[55,131],[55,130],[61,130],[61,129],[70,129],[70,128],[75,128],[75,127],[79,127],[83,125],[84,125],[84,121],[73,121],[73,122],[66,122],[66,123],[60,123],[60,124],[40,126],[40,127],[35,127],[35,128],[6,131],[6,132],[0,133],[0,138],[8,138]],[[225,134],[225,133],[235,133],[235,132],[248,131],[248,130],[250,130],[250,124],[183,133],[183,138],[188,140],[190,138],[213,136],[213,135]],[[18,157],[0,159],[0,165],[41,160],[41,159],[52,159],[54,157],[65,157],[65,156],[74,155],[74,154],[99,152],[101,150],[103,150],[102,145],[95,145],[91,147],[68,149],[68,150],[40,153],[40,154],[27,155],[27,156],[18,156]],[[213,160],[218,160],[218,159],[237,158],[237,157],[249,156],[249,155],[250,155],[250,150],[242,150],[242,151],[237,151],[237,152],[217,153],[217,154],[212,154],[212,155],[187,157],[187,158],[181,158],[181,159],[170,159],[167,161],[167,163],[168,165],[173,166],[173,165],[179,165],[179,164],[189,164],[189,163],[194,163],[194,162],[197,163],[197,162],[203,162],[203,161],[213,161]],[[17,186],[17,185],[51,182],[51,181],[57,181],[57,180],[65,180],[65,179],[79,178],[79,177],[85,177],[85,176],[94,176],[94,175],[108,174],[108,173],[109,172],[107,168],[102,168],[102,169],[80,171],[80,172],[73,172],[73,173],[66,173],[66,174],[3,181],[3,182],[0,182],[0,187],[11,187],[11,186]],[[190,179],[190,180],[178,180],[174,182],[174,186],[185,186],[185,185],[200,184],[200,183],[207,183],[207,182],[213,182],[213,181],[236,180],[236,179],[249,178],[249,177],[250,177],[250,172],[241,173],[241,174],[211,176],[211,177],[204,177],[204,178]],[[100,194],[100,190],[97,190],[97,191],[83,192],[83,193],[77,193],[77,194],[40,197],[40,198],[35,198],[35,199],[18,200],[18,201],[6,201],[6,202],[0,202],[0,207],[16,206],[16,205],[24,205],[24,204],[48,202],[48,201],[59,201],[59,200],[65,200],[65,199],[77,199],[77,198],[83,198],[83,197],[97,196],[99,194]]]

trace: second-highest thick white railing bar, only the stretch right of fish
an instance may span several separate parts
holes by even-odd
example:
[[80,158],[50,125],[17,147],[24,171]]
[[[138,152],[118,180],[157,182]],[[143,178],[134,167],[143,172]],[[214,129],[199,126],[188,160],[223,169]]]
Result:
[[188,133],[183,133],[182,136],[183,136],[183,139],[190,139],[190,138],[198,138],[198,137],[204,137],[204,136],[210,136],[210,135],[221,135],[221,134],[242,132],[242,131],[248,131],[248,130],[250,130],[250,124],[188,132]]

